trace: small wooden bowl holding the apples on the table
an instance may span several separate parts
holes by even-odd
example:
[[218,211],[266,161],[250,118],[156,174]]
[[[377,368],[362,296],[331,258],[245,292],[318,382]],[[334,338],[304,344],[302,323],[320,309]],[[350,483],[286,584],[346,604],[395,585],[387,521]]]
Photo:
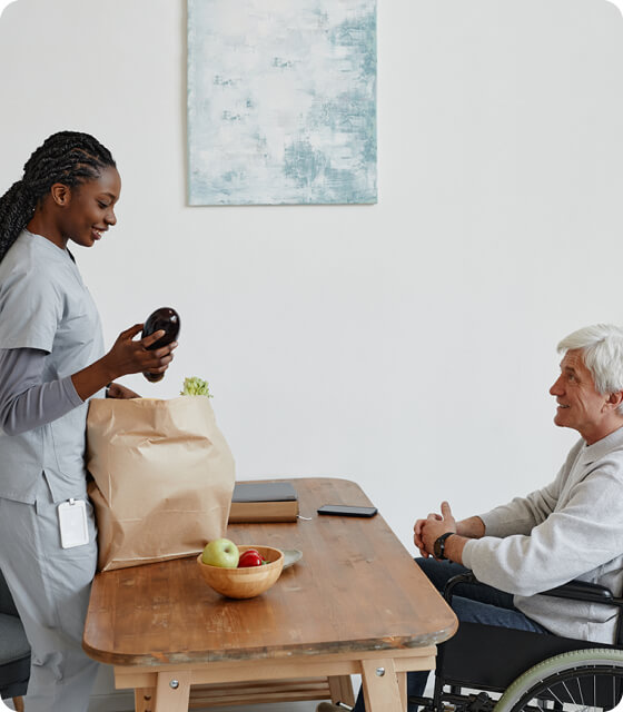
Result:
[[253,599],[268,591],[281,575],[284,554],[271,546],[238,546],[240,554],[246,552],[247,548],[256,548],[259,555],[268,563],[261,566],[224,568],[204,564],[201,561],[202,554],[199,554],[197,563],[206,583],[217,593],[228,599]]

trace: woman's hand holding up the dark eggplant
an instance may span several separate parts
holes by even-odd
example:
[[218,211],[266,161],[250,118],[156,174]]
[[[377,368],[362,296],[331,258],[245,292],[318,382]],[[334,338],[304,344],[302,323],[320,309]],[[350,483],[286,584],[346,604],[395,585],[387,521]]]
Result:
[[148,350],[149,346],[165,336],[165,332],[160,329],[145,338],[135,340],[135,336],[142,330],[142,324],[135,324],[129,329],[121,332],[112,348],[103,357],[102,360],[107,368],[113,374],[110,380],[146,370],[161,374],[169,367],[174,358],[172,352],[177,348],[177,342],[171,342],[156,350]]

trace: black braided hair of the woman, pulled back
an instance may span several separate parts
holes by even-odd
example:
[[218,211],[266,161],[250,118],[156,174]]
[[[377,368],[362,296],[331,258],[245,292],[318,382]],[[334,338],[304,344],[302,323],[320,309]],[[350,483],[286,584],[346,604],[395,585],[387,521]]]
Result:
[[0,197],[0,261],[56,182],[73,188],[116,167],[110,151],[89,134],[52,134],[23,167],[23,178]]

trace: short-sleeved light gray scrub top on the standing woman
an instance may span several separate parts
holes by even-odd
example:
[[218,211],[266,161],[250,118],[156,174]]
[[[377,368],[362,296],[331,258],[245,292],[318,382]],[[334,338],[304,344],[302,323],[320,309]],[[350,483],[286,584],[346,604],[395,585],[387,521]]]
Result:
[[[28,230],[0,261],[0,348],[46,352],[43,382],[105,353],[97,307],[69,253]],[[31,431],[0,433],[0,497],[33,503],[41,472],[55,502],[86,496],[87,409],[85,402]]]

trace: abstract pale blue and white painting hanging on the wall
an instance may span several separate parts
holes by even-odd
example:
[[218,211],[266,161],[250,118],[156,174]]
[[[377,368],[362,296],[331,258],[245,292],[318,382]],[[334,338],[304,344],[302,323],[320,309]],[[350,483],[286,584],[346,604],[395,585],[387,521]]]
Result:
[[376,0],[188,0],[190,205],[376,202]]

